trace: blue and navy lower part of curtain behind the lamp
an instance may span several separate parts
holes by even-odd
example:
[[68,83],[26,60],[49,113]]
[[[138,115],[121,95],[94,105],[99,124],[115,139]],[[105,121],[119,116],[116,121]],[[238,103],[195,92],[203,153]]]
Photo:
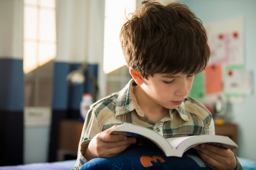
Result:
[[[55,62],[54,87],[52,105],[52,125],[48,161],[56,161],[58,124],[61,119],[76,119],[80,117],[80,102],[83,93],[91,93],[91,80],[85,75],[86,80],[81,85],[69,86],[66,81],[67,74],[77,69],[80,64]],[[88,64],[88,70],[95,77],[98,75],[98,65]]]

